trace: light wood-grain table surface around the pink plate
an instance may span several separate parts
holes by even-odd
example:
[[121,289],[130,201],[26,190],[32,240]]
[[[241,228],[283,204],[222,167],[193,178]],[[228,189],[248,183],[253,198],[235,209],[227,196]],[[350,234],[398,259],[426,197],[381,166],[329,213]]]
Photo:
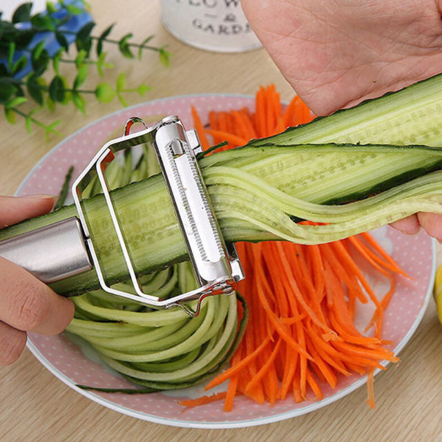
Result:
[[[95,34],[111,23],[113,33],[133,32],[141,41],[155,34],[153,43],[168,44],[173,52],[169,69],[145,53],[142,61],[123,59],[106,47],[117,68],[108,70],[113,83],[125,71],[128,84],[152,86],[128,104],[188,93],[253,94],[260,84],[273,82],[285,99],[294,95],[265,50],[220,54],[191,48],[162,27],[154,0],[89,0],[97,22]],[[70,81],[75,73],[67,73]],[[90,69],[88,84],[99,81]],[[41,111],[44,122],[61,119],[59,131],[68,136],[99,117],[121,108],[115,101],[98,104],[88,99],[87,115],[73,106],[58,106],[55,115]],[[49,142],[37,128],[29,135],[22,121],[15,126],[0,121],[0,194],[15,193],[32,166],[61,141]],[[440,259],[438,258],[440,262]],[[1,307],[0,307],[1,308]],[[235,430],[198,430],[140,421],[108,410],[77,394],[52,376],[26,349],[17,363],[0,369],[1,442],[87,441],[442,441],[442,327],[434,302],[412,340],[401,352],[401,363],[376,376],[376,410],[369,410],[362,387],[316,412],[270,425]]]

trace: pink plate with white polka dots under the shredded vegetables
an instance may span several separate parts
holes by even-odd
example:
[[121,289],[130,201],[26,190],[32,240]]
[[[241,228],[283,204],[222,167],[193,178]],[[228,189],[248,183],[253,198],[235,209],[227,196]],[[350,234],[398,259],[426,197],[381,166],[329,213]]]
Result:
[[[134,115],[148,123],[156,122],[166,115],[179,115],[186,127],[191,128],[191,104],[198,109],[202,118],[206,118],[211,109],[253,108],[254,99],[244,95],[191,95],[158,99],[125,108],[89,124],[55,146],[30,171],[17,194],[57,194],[68,167],[73,164],[74,175],[77,176],[106,141],[122,133],[124,122]],[[435,269],[434,241],[425,233],[404,236],[390,227],[378,229],[372,234],[398,265],[414,278],[398,278],[396,292],[385,311],[384,336],[393,341],[392,348],[397,354],[414,334],[430,299]],[[385,281],[370,282],[378,294],[388,289]],[[357,323],[361,327],[366,325],[372,312],[372,309],[359,306],[356,310]],[[222,401],[184,409],[177,401],[202,396],[204,385],[175,392],[140,395],[89,392],[79,389],[76,384],[114,388],[133,386],[105,367],[91,349],[74,343],[65,334],[30,334],[28,348],[52,374],[91,400],[138,419],[180,427],[247,427],[289,419],[328,405],[366,382],[365,376],[343,376],[334,390],[327,385],[322,387],[324,398],[321,401],[309,398],[304,403],[294,403],[292,398],[287,398],[270,407],[257,405],[249,398],[240,396],[236,398],[233,411],[229,413],[222,411]],[[225,385],[221,385],[215,392],[222,390],[225,390]]]

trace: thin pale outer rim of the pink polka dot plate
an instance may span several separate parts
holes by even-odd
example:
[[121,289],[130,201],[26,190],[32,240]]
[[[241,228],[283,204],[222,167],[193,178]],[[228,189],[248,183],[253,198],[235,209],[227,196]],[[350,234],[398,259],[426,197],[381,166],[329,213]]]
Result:
[[[93,122],[90,122],[86,124],[85,126],[82,126],[81,128],[78,128],[77,131],[73,132],[72,134],[65,137],[63,140],[58,142],[55,146],[53,146],[41,159],[30,169],[30,171],[26,174],[26,176],[23,178],[19,186],[17,187],[17,190],[15,191],[15,196],[18,196],[19,193],[22,191],[23,186],[26,185],[26,182],[32,177],[32,175],[35,174],[37,169],[41,166],[41,164],[48,159],[55,151],[58,151],[59,148],[64,146],[66,142],[71,140],[73,137],[79,135],[81,132],[86,131],[91,126],[95,126],[95,124],[99,124],[99,122],[104,121],[105,119],[108,119],[110,117],[114,117],[115,115],[119,115],[121,113],[124,113],[126,111],[131,111],[131,109],[139,108],[141,106],[146,106],[146,104],[155,105],[159,102],[165,102],[173,99],[191,99],[195,97],[236,97],[236,98],[245,98],[245,99],[254,99],[253,95],[248,94],[235,94],[235,93],[193,93],[193,94],[184,94],[184,95],[173,95],[170,97],[162,97],[157,99],[148,100],[147,102],[142,102],[138,104],[134,104],[132,106],[128,106],[126,108],[119,109],[113,113],[109,113],[107,115],[104,115],[103,117],[100,117],[99,119],[94,120]],[[394,354],[397,355],[401,350],[407,345],[407,343],[410,341],[412,336],[414,335],[414,332],[416,332],[417,327],[421,324],[421,320],[423,318],[423,315],[425,314],[425,311],[427,310],[428,303],[430,302],[431,294],[432,294],[432,285],[434,283],[434,277],[436,273],[436,240],[434,238],[431,238],[431,249],[432,249],[432,269],[430,273],[430,282],[427,287],[427,293],[425,294],[425,298],[423,300],[423,303],[421,305],[421,309],[419,310],[419,314],[416,316],[416,319],[414,320],[414,323],[410,329],[408,329],[405,336],[401,339],[401,341],[394,347]],[[259,417],[255,419],[247,419],[247,420],[241,420],[241,421],[215,421],[215,422],[204,422],[204,421],[184,421],[180,419],[171,419],[171,418],[161,418],[158,416],[155,416],[153,414],[148,414],[146,412],[139,412],[132,410],[131,408],[125,407],[124,405],[115,404],[111,401],[108,401],[106,398],[103,398],[102,396],[99,396],[98,394],[95,394],[93,392],[90,392],[88,390],[83,390],[70,379],[68,376],[66,376],[64,373],[60,372],[57,367],[52,365],[48,359],[46,359],[43,354],[39,352],[39,349],[32,343],[32,340],[28,338],[26,342],[26,347],[30,350],[30,352],[37,358],[37,360],[46,367],[46,369],[49,370],[55,377],[57,377],[61,382],[68,385],[72,390],[75,390],[82,396],[85,396],[86,398],[90,399],[91,401],[94,401],[95,403],[98,403],[99,405],[103,405],[106,408],[109,408],[115,412],[119,412],[122,414],[126,414],[127,416],[134,417],[136,419],[141,419],[142,421],[148,421],[152,423],[159,423],[162,425],[169,425],[173,427],[184,427],[184,428],[200,428],[200,429],[231,429],[231,428],[242,428],[242,427],[253,427],[258,425],[267,425],[269,423],[275,423],[279,421],[284,421],[286,419],[291,419],[297,416],[302,416],[303,414],[307,414],[309,412],[313,412],[315,410],[319,410],[322,407],[325,407],[326,405],[329,405],[331,403],[334,403],[335,401],[338,401],[340,398],[343,398],[344,396],[347,396],[347,394],[354,392],[354,390],[357,390],[358,388],[362,387],[367,383],[367,376],[362,376],[357,381],[352,383],[351,385],[348,385],[343,390],[340,390],[339,392],[336,392],[332,394],[331,396],[322,399],[321,401],[315,401],[309,405],[306,405],[305,407],[296,408],[294,410],[289,410],[287,412],[281,412],[279,414],[273,414],[271,416],[267,417]],[[389,365],[389,361],[383,361],[381,365],[383,367],[387,367]],[[378,374],[378,372],[381,372],[381,369],[376,368],[374,371],[374,376]]]

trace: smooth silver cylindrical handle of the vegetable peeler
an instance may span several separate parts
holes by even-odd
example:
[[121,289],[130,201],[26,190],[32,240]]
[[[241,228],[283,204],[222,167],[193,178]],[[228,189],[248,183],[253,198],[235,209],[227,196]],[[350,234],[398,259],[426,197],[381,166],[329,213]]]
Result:
[[0,256],[46,284],[92,269],[76,217],[1,241]]

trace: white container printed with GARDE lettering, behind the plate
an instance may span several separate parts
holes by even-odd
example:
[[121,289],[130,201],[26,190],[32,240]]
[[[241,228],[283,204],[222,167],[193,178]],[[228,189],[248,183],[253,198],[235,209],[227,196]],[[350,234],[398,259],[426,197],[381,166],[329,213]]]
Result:
[[215,52],[244,52],[261,44],[240,0],[160,0],[161,19],[184,43]]

